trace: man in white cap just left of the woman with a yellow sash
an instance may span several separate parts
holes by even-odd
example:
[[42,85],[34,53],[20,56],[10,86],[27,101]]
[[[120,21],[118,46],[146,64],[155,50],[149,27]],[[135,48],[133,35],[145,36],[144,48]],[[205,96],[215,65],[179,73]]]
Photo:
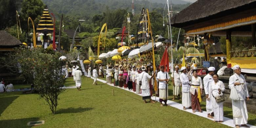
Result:
[[186,67],[181,67],[181,75],[180,75],[180,80],[182,84],[182,106],[183,110],[186,110],[186,108],[189,108],[191,106],[191,96],[189,92],[189,79],[187,77],[187,68]]

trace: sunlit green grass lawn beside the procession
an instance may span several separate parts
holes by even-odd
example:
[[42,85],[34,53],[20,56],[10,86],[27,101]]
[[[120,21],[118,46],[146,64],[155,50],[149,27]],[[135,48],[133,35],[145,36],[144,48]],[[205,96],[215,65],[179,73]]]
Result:
[[[98,82],[100,84],[100,82]],[[11,92],[0,94],[0,128],[23,128],[29,121],[45,120],[38,127],[228,127],[204,117],[147,103],[141,96],[106,84],[92,85],[82,79],[82,90],[67,89],[59,96],[57,114],[37,94]],[[74,86],[73,78],[65,86]],[[115,95],[113,96],[112,90]],[[172,94],[172,86],[169,93]],[[172,96],[168,97],[169,99]],[[176,100],[181,102],[180,100]],[[205,103],[202,103],[205,110]],[[224,107],[224,115],[232,118],[232,110]],[[256,125],[256,115],[249,114],[248,123]]]

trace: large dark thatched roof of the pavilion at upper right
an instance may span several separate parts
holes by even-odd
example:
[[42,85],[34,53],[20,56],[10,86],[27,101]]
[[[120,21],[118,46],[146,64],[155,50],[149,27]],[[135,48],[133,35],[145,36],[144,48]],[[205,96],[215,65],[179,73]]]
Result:
[[255,8],[256,0],[198,0],[171,18],[174,27],[207,21]]

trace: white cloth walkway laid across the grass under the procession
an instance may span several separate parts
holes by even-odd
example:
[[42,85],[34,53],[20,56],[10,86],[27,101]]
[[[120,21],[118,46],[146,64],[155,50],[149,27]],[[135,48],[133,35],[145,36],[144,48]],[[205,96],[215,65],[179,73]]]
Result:
[[[98,79],[98,78],[97,78],[97,81],[102,82],[102,83],[106,83],[105,80]],[[114,84],[108,84],[108,85],[114,86]],[[120,88],[119,86],[114,86],[114,87]],[[124,89],[124,88],[121,88],[121,89]],[[124,89],[124,90],[129,91],[128,88],[127,88],[127,89]],[[136,94],[136,92],[133,92],[132,90],[129,91],[129,92]],[[141,94],[138,94],[138,95],[141,96]],[[153,100],[156,99],[156,101],[159,102],[159,97],[152,96],[151,98],[152,98]],[[198,116],[207,118],[207,113],[206,113],[206,111],[203,111],[203,113],[200,113],[200,112],[193,113],[192,109],[183,110],[182,104],[177,103],[177,102],[174,102],[174,101],[171,101],[171,100],[167,100],[167,104],[168,104],[169,106],[172,106],[172,107],[174,107],[174,108],[180,109],[180,110],[182,110],[182,111],[189,112],[189,113],[192,113],[192,114],[195,114],[195,115],[198,115]],[[210,118],[207,118],[207,119],[210,119]],[[213,119],[210,119],[210,120],[213,120]],[[223,117],[223,121],[224,121],[224,122],[223,122],[222,124],[227,125],[227,126],[230,126],[230,127],[235,127],[235,124],[233,123],[233,119],[230,119],[230,118],[227,118],[227,117]],[[247,124],[247,125],[250,126],[250,128],[256,128],[256,126],[249,125],[249,124]],[[242,126],[241,126],[241,127],[242,127]]]

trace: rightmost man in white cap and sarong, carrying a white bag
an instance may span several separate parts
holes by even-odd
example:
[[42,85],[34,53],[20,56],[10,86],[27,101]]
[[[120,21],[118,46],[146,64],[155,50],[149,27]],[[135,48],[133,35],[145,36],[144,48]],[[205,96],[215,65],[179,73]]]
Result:
[[[249,93],[245,77],[241,74],[241,68],[239,65],[235,65],[232,69],[234,70],[234,75],[230,76],[228,87],[231,90],[235,90],[237,93],[237,99],[232,99],[233,121],[236,128],[239,128],[239,125],[249,127],[246,125],[248,113],[245,99],[249,100]],[[230,93],[230,95],[232,94]]]

